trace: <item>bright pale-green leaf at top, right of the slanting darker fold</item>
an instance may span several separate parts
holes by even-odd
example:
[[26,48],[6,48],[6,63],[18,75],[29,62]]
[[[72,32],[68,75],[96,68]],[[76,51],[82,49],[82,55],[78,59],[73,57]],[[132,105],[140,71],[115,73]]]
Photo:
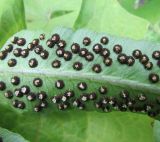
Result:
[[74,27],[142,39],[148,25],[148,21],[124,10],[117,0],[84,0]]

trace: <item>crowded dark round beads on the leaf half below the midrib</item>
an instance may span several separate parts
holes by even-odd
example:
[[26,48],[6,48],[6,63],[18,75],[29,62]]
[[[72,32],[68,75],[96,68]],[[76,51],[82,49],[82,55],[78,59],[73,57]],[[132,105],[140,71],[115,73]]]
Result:
[[[14,86],[19,85],[20,78],[17,76],[12,77],[11,83]],[[43,81],[40,78],[35,78],[33,80],[33,85],[35,87],[41,87],[42,84]],[[65,87],[65,83],[63,80],[57,80],[55,82],[55,87],[57,89],[63,89]],[[77,89],[85,91],[87,90],[87,84],[85,82],[79,82],[77,83]],[[5,90],[6,84],[1,81],[0,91]],[[18,98],[26,97],[28,101],[38,101],[34,106],[35,112],[39,112],[44,108],[47,108],[49,102],[56,104],[59,110],[66,110],[71,107],[83,110],[86,108],[88,102],[92,102],[95,108],[104,112],[109,112],[111,110],[142,112],[147,113],[151,117],[155,117],[160,113],[160,97],[150,101],[149,97],[145,94],[139,93],[138,95],[133,96],[127,90],[122,90],[115,96],[108,96],[108,88],[105,86],[100,86],[98,88],[98,93],[81,93],[80,96],[76,96],[75,93],[76,92],[73,90],[68,89],[64,91],[64,93],[60,93],[49,98],[45,91],[34,93],[31,91],[29,86],[24,85],[20,88],[16,88],[13,92],[10,90],[5,91],[4,96],[11,99],[12,105],[18,109],[25,109],[26,107],[26,104],[23,101],[19,101]],[[15,97],[17,99],[13,99]]]

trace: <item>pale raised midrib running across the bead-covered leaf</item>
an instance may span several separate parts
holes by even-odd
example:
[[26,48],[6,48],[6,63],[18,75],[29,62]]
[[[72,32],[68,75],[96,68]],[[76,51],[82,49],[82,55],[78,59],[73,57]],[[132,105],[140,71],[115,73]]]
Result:
[[110,75],[97,75],[93,73],[80,73],[80,72],[73,72],[73,71],[49,71],[49,70],[1,70],[0,74],[23,74],[24,76],[31,75],[31,76],[48,76],[48,77],[60,77],[60,78],[75,78],[75,79],[87,79],[90,81],[95,81],[97,83],[108,82],[113,86],[124,87],[125,88],[132,88],[134,90],[141,90],[148,93],[160,94],[160,88],[151,84],[141,83],[134,80],[127,80],[117,76],[110,76]]

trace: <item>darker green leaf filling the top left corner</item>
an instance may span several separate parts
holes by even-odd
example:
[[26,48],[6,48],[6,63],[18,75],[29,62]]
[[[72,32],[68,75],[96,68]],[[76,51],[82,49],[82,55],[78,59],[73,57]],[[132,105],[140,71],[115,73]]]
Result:
[[14,33],[25,28],[23,0],[0,1],[0,47]]

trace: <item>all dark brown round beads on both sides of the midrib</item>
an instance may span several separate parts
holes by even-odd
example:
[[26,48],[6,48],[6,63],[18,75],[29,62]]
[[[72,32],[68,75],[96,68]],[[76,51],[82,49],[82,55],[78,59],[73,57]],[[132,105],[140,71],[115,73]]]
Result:
[[[40,56],[43,60],[48,59],[49,52],[47,48],[56,48],[55,53],[57,59],[53,60],[51,63],[52,68],[60,68],[61,60],[64,61],[72,60],[72,56],[76,55],[88,62],[92,62],[95,59],[95,55],[102,57],[103,64],[107,67],[111,66],[113,59],[110,55],[110,50],[104,48],[103,45],[109,43],[109,39],[105,36],[101,37],[99,43],[93,45],[92,52],[87,49],[87,46],[91,44],[91,39],[89,37],[84,37],[82,43],[83,48],[80,47],[78,43],[72,43],[70,50],[66,50],[65,47],[67,43],[65,40],[61,39],[60,35],[55,33],[49,39],[46,40],[47,48],[44,48],[40,42],[45,40],[45,35],[41,34],[39,38],[34,39],[31,43],[27,45],[26,49],[22,48],[13,48],[14,44],[17,46],[25,46],[26,39],[14,37],[4,50],[0,52],[0,59],[5,60],[7,55],[13,53],[15,58],[11,58],[7,61],[9,67],[15,67],[17,65],[17,58],[27,58],[30,52],[34,52]],[[119,44],[116,44],[113,47],[113,52],[116,55],[116,62],[119,62],[122,65],[127,65],[131,67],[135,64],[135,60],[138,60],[140,64],[146,70],[152,70],[153,63],[150,61],[149,57],[143,54],[140,50],[136,49],[132,52],[132,55],[126,55],[123,51],[123,47]],[[154,51],[152,53],[152,58],[157,60],[157,66],[160,67],[160,51]],[[28,61],[28,66],[30,68],[36,68],[39,65],[39,62],[36,58],[31,58]],[[81,61],[75,61],[72,64],[72,68],[75,71],[81,71],[84,69],[84,65]],[[93,64],[91,66],[91,71],[93,73],[101,73],[103,71],[101,64]],[[150,73],[148,79],[151,83],[159,82],[159,75],[156,73]],[[13,86],[20,85],[21,79],[18,76],[13,76],[11,79],[11,84]],[[42,87],[43,80],[39,77],[34,78],[33,86]],[[60,93],[49,97],[45,91],[33,92],[28,85],[23,85],[19,88],[16,88],[14,91],[9,90],[6,87],[4,81],[0,81],[0,91],[4,91],[4,96],[8,99],[12,99],[12,104],[15,108],[24,109],[26,104],[23,101],[20,101],[18,98],[26,97],[28,101],[38,101],[34,106],[34,111],[39,112],[48,106],[49,101],[53,104],[56,104],[59,110],[65,110],[70,107],[76,107],[79,109],[85,109],[87,102],[93,102],[94,107],[105,112],[110,111],[111,109],[120,110],[120,111],[134,111],[134,112],[144,112],[148,113],[150,116],[156,116],[160,113],[160,97],[154,98],[152,101],[149,100],[149,97],[143,93],[138,94],[137,96],[131,95],[127,90],[122,90],[119,94],[115,96],[108,96],[108,88],[106,86],[100,86],[98,88],[98,93],[90,92],[84,93],[87,90],[86,82],[78,82],[77,88],[74,90],[83,91],[81,95],[75,95],[76,92],[70,88]],[[64,80],[57,80],[55,82],[55,87],[57,89],[64,89],[65,83]],[[17,99],[15,99],[17,97]],[[89,103],[90,104],[90,103]]]

